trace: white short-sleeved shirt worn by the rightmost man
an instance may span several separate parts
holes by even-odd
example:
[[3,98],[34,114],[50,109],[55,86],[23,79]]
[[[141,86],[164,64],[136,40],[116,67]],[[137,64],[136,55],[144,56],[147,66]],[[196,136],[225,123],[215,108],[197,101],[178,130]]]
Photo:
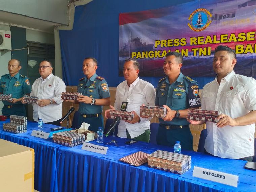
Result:
[[[202,109],[220,110],[231,118],[237,118],[256,110],[256,81],[254,78],[235,74],[232,71],[221,80],[217,78],[202,90]],[[224,126],[206,122],[208,135],[205,149],[214,156],[240,159],[254,155],[255,124]]]

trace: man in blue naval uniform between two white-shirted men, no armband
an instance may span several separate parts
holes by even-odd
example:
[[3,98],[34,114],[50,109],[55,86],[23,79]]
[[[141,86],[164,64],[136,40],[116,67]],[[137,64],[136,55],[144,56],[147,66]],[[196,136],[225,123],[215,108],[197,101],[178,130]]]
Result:
[[79,127],[83,122],[90,124],[89,130],[97,132],[99,127],[104,129],[102,109],[110,105],[110,93],[106,80],[96,74],[97,60],[89,57],[83,61],[83,72],[86,77],[79,80]]

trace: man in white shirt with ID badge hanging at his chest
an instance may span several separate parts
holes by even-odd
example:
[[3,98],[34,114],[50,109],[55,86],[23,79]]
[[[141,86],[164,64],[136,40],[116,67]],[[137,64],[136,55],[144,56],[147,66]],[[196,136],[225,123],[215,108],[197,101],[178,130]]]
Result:
[[[154,86],[138,77],[139,63],[135,59],[127,59],[124,63],[123,74],[125,81],[117,86],[114,107],[110,105],[109,110],[120,110],[123,102],[128,102],[126,111],[131,111],[134,117],[131,121],[120,120],[118,136],[135,141],[149,142],[150,118],[140,117],[140,106],[142,104],[154,106],[156,92]],[[106,111],[105,117],[108,116]]]

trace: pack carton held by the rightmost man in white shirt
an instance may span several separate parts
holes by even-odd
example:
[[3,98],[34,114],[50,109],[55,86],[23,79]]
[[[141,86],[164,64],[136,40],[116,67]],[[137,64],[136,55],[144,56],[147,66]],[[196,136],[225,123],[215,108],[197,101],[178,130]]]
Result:
[[221,111],[188,109],[188,119],[194,121],[206,121],[217,123],[219,121],[217,117],[220,114]]

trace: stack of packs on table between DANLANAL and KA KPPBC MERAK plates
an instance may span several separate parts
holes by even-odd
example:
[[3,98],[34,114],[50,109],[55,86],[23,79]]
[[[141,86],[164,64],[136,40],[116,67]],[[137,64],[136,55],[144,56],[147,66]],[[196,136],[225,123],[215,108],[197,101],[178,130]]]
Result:
[[67,146],[74,147],[77,145],[83,144],[85,141],[85,135],[80,133],[74,133],[71,131],[63,131],[53,134],[53,141],[55,143]]

